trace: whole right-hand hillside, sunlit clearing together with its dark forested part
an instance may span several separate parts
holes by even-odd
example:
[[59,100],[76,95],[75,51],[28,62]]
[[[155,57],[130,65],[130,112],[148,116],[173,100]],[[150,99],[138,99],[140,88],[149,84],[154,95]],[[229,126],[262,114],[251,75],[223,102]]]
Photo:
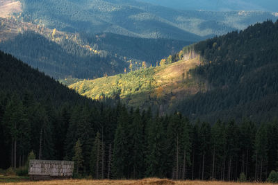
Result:
[[186,46],[160,67],[70,87],[90,98],[121,98],[133,107],[179,111],[193,120],[268,121],[278,111],[277,35],[277,22],[265,21]]

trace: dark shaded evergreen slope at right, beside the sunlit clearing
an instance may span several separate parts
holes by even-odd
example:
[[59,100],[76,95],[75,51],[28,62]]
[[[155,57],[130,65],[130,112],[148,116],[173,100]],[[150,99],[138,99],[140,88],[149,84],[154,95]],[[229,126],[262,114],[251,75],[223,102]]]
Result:
[[278,21],[255,24],[186,49],[202,56],[202,65],[190,75],[206,82],[208,91],[179,101],[173,112],[178,109],[190,118],[210,122],[277,118]]

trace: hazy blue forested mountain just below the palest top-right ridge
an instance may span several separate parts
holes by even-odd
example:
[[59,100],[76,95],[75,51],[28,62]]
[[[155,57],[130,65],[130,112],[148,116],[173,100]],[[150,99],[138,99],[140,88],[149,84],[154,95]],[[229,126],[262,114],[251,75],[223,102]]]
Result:
[[[70,32],[182,39],[191,42],[212,35],[222,35],[231,30],[244,29],[250,24],[266,19],[277,19],[272,12],[174,10],[135,0],[23,0],[22,2],[24,4],[22,16],[26,21],[43,24],[49,28]],[[174,4],[172,1],[168,3]],[[180,8],[183,4],[184,2],[177,3]],[[199,4],[206,3],[199,2]]]

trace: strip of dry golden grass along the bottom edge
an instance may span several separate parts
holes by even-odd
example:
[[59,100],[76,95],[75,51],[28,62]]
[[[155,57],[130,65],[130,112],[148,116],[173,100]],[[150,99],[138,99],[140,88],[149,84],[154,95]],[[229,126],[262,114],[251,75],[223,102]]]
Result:
[[12,182],[12,183],[4,183],[4,184],[22,184],[22,185],[270,185],[270,183],[240,183],[240,182],[215,182],[215,181],[172,181],[170,179],[141,179],[141,180],[85,180],[85,179],[69,179],[69,180],[53,180],[53,181],[39,181],[39,182]]

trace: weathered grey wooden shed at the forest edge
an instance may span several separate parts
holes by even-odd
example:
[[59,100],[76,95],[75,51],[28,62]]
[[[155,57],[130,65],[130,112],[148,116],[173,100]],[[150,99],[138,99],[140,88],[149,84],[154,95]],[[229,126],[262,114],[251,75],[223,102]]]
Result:
[[31,179],[65,179],[72,177],[74,161],[30,160],[28,175]]

